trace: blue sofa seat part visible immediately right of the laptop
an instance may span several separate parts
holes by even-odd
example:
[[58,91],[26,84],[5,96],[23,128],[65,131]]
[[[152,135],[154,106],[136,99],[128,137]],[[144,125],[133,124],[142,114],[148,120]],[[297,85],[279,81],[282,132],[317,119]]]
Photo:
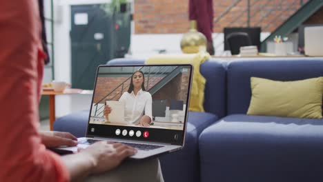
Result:
[[188,112],[184,148],[159,158],[165,181],[199,181],[199,134],[215,121],[215,114]]

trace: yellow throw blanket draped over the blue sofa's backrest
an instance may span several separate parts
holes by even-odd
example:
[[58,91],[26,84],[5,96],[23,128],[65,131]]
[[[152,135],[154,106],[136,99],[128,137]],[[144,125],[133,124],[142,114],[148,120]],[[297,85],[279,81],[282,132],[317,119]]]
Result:
[[193,65],[193,83],[190,91],[190,111],[204,112],[204,88],[206,80],[199,72],[199,65],[210,58],[210,54],[199,52],[197,54],[159,54],[150,57],[146,64],[173,64],[173,63],[190,63]]

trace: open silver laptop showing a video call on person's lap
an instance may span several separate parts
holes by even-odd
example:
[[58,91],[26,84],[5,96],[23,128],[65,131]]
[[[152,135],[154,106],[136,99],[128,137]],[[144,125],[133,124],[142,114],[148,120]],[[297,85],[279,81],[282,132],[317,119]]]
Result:
[[[152,101],[148,99],[147,102],[143,102],[139,97],[133,95],[133,99],[135,99],[133,103],[137,104],[136,108],[145,108],[144,114],[146,114],[145,112],[156,110],[156,108],[150,107],[158,107],[153,106],[153,101],[169,101],[166,104],[168,109],[165,114],[154,117],[153,123],[150,123],[148,127],[140,127],[133,123],[93,122],[91,118],[102,116],[105,101],[113,100],[116,103],[122,94],[128,92],[132,75],[137,70],[144,73],[142,85],[151,95]],[[77,147],[61,147],[57,150],[77,152],[77,148],[87,148],[90,144],[101,140],[133,146],[137,149],[137,153],[130,156],[130,159],[147,159],[181,150],[185,141],[192,72],[193,66],[190,64],[99,65],[91,104],[94,107],[90,107],[86,136],[78,139]],[[169,110],[171,100],[184,102],[182,120],[184,122],[171,121],[172,116]],[[124,114],[127,113],[124,111]]]

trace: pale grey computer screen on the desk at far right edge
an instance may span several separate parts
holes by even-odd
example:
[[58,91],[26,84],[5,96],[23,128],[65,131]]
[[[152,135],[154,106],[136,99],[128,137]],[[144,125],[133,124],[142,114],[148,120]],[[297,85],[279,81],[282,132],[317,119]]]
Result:
[[304,28],[304,50],[307,56],[323,56],[323,26]]

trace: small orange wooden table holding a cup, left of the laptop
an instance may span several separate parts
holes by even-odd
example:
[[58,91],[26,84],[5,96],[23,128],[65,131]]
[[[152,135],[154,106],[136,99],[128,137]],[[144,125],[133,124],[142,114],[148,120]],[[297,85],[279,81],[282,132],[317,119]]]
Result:
[[63,92],[55,92],[54,90],[42,90],[41,95],[48,95],[50,97],[49,109],[50,109],[50,130],[52,130],[52,125],[55,121],[55,95],[59,94],[81,94],[84,90],[70,88]]

